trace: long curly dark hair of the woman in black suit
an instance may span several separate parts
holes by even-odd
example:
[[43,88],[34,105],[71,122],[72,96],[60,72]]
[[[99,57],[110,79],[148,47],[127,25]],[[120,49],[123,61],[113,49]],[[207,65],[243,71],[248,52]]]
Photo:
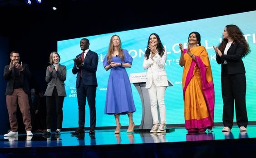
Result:
[[[231,24],[226,25],[226,31],[231,38],[233,38],[235,41],[239,42],[241,45],[244,46],[244,54],[242,55],[242,58],[247,56],[251,52],[251,49],[241,29],[238,28],[236,25]],[[227,42],[227,39],[223,39],[221,44],[219,45],[219,50],[224,52]]]

